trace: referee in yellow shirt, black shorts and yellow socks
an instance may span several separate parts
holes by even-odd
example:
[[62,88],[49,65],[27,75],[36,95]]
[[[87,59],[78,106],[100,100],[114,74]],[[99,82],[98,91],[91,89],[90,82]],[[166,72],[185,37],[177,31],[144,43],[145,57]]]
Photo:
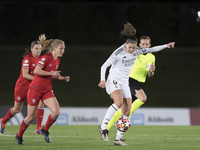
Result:
[[[148,36],[142,36],[140,38],[139,46],[141,48],[151,47],[151,39]],[[144,104],[147,97],[142,89],[146,76],[152,77],[155,71],[155,56],[152,53],[141,54],[137,57],[135,64],[129,75],[129,86],[131,89],[131,94],[135,101],[131,105],[130,116],[135,112],[141,105]],[[113,118],[109,121],[107,130],[113,126],[113,124],[121,117],[122,111],[119,109]],[[121,144],[119,144],[121,145]]]

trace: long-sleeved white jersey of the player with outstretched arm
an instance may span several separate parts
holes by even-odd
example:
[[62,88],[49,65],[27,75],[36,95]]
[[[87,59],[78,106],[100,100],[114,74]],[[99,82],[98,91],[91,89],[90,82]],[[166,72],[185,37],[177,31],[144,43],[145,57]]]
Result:
[[167,44],[161,46],[155,46],[152,48],[140,48],[137,47],[132,53],[127,53],[125,44],[116,49],[106,62],[101,66],[101,81],[105,80],[106,69],[110,66],[109,77],[119,80],[127,80],[131,69],[135,63],[136,58],[140,54],[152,53],[167,48]]

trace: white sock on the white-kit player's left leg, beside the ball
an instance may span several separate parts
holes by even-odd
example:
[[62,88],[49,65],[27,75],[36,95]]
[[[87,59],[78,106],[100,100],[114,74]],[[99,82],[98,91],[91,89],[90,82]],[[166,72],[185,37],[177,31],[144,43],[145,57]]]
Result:
[[104,116],[103,122],[102,122],[102,124],[101,124],[101,129],[102,129],[102,130],[107,129],[108,122],[112,119],[112,117],[114,116],[114,114],[116,113],[116,111],[117,111],[118,109],[119,109],[119,108],[118,108],[115,104],[112,104],[112,105],[108,108],[108,110],[107,110],[107,112],[106,112],[106,114],[105,114],[105,116]]

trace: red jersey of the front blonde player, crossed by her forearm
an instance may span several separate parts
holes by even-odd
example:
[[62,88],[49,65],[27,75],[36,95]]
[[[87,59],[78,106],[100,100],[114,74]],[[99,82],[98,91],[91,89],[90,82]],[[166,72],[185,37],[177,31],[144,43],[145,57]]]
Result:
[[[52,53],[47,53],[42,56],[42,58],[38,61],[38,66],[42,67],[42,70],[52,72],[57,71],[58,66],[60,64],[60,58],[54,59]],[[36,75],[31,82],[30,87],[36,89],[40,93],[47,92],[52,90],[52,78],[53,76],[41,76]]]

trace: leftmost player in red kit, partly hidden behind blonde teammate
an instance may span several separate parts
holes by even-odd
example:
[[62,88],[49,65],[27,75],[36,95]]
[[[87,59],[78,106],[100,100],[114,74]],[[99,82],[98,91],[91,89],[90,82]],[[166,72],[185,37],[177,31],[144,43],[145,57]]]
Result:
[[[41,59],[41,44],[38,41],[33,41],[31,43],[30,49],[26,49],[24,53],[22,68],[20,72],[20,76],[15,84],[15,103],[14,107],[9,109],[4,118],[0,119],[1,125],[1,133],[3,134],[5,131],[6,122],[9,121],[16,113],[19,113],[22,110],[24,100],[26,98],[28,87],[32,82],[35,74],[33,73],[35,66],[39,59]],[[44,115],[44,104],[39,103],[37,109],[37,128],[36,134],[43,134],[41,132],[41,123]]]

